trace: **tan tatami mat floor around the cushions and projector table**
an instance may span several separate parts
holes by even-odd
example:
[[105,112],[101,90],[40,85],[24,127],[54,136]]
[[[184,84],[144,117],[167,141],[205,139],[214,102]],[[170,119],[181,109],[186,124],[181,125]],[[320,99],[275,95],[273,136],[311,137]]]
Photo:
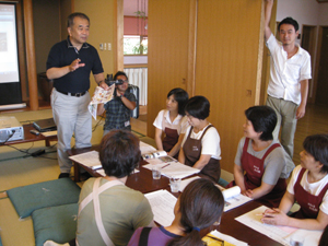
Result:
[[[51,118],[52,114],[51,109],[45,109],[37,112],[1,113],[0,116],[14,116],[21,124],[30,124],[36,119]],[[93,119],[93,127],[95,129],[91,142],[92,144],[97,144],[103,137],[103,120],[96,121]],[[132,130],[142,141],[154,144],[154,140],[145,137],[145,132],[137,132],[133,129],[133,125]],[[3,191],[19,186],[58,178],[60,171],[57,163],[57,145],[56,142],[51,142],[51,144],[54,145],[47,148],[44,141],[37,141],[34,143],[15,144],[12,145],[13,148],[0,147],[0,236],[3,246],[35,245],[31,218],[21,221],[10,199],[3,197]],[[74,140],[72,140],[73,144]],[[33,153],[38,149],[46,150],[46,154],[32,157],[19,151]]]

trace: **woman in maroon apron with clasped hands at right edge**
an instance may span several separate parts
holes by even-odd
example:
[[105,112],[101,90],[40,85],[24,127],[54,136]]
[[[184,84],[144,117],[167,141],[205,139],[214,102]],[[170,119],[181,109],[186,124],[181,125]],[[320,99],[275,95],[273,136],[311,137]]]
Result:
[[[266,210],[261,221],[306,230],[324,230],[328,224],[328,134],[308,136],[300,153],[301,165],[293,171],[278,209]],[[301,209],[288,216],[294,202]]]

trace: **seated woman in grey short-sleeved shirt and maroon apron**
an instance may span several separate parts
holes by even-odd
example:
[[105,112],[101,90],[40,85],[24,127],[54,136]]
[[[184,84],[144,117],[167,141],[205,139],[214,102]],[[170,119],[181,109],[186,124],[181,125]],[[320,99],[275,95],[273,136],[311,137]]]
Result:
[[235,180],[227,187],[237,185],[243,195],[276,208],[285,192],[289,174],[286,154],[272,136],[277,115],[269,106],[249,107],[245,115],[245,137],[239,141],[235,157]]

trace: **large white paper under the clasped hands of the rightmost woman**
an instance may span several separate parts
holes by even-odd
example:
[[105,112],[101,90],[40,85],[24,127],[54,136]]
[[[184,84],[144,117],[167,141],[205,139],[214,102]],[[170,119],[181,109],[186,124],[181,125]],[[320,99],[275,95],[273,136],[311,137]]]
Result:
[[294,227],[265,224],[260,221],[262,216],[257,214],[262,214],[266,209],[268,207],[261,206],[235,220],[285,246],[290,245],[290,237],[296,233],[300,233],[305,239],[304,246],[318,245],[323,231],[297,230]]

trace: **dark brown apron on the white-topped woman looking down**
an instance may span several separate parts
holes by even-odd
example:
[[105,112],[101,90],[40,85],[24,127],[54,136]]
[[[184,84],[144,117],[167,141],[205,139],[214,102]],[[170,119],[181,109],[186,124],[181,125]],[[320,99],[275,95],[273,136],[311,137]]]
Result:
[[[195,163],[200,159],[201,139],[203,138],[207,130],[211,127],[213,127],[213,126],[209,125],[207,127],[207,129],[202,132],[199,140],[190,138],[191,131],[194,129],[194,127],[191,127],[189,134],[186,139],[186,142],[183,147],[185,157],[186,157],[186,161],[185,161],[186,165],[194,166]],[[203,174],[203,175],[210,177],[215,183],[219,183],[220,175],[221,175],[220,160],[211,157],[209,163],[200,171],[200,174]]]

